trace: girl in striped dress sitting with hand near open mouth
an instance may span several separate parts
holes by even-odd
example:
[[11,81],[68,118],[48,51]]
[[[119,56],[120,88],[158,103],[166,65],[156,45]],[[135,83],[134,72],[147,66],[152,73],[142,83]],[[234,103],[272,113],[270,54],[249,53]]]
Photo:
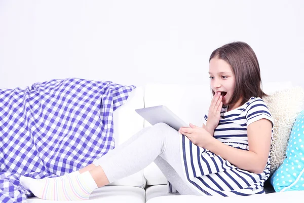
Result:
[[209,59],[213,98],[202,127],[146,127],[80,171],[41,180],[21,177],[35,196],[85,200],[91,192],[154,161],[169,192],[191,195],[261,194],[270,176],[273,118],[261,99],[259,64],[243,42],[214,50]]

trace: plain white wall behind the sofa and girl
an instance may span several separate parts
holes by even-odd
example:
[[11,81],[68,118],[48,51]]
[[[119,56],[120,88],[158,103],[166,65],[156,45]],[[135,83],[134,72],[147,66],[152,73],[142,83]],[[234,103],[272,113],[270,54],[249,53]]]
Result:
[[211,52],[245,41],[263,82],[304,87],[304,1],[0,0],[0,88],[79,77],[202,84]]

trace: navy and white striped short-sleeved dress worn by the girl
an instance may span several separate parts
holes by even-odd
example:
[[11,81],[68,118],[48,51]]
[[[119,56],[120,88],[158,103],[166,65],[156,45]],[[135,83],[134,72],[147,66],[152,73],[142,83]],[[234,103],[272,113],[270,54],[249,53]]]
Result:
[[[214,138],[222,143],[248,150],[247,126],[259,119],[274,121],[268,107],[259,97],[232,111],[221,109],[221,119],[214,130]],[[204,117],[206,124],[207,115]],[[261,174],[242,170],[222,157],[200,148],[181,136],[180,147],[184,173],[189,184],[202,195],[251,195],[264,193],[263,185],[270,176],[270,156]]]

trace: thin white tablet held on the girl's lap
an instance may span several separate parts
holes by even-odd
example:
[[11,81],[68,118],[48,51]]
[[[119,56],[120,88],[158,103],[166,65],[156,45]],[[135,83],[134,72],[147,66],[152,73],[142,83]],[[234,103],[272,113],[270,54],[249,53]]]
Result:
[[189,127],[189,124],[176,116],[164,105],[136,109],[135,111],[151,125],[155,125],[157,123],[166,123],[177,131],[180,127]]

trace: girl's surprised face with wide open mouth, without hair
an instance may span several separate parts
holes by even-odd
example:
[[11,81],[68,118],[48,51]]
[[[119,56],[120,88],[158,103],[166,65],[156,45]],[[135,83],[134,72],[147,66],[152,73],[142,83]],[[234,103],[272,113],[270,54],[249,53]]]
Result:
[[[222,103],[226,106],[235,87],[235,75],[231,66],[222,59],[212,58],[209,63],[209,75],[212,90],[221,92]],[[229,110],[232,110],[232,107],[229,107]]]

